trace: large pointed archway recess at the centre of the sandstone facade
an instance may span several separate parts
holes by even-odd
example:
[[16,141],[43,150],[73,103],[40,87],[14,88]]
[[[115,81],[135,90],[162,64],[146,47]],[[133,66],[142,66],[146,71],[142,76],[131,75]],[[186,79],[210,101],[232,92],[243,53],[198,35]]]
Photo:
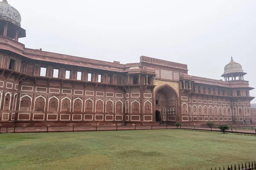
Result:
[[[178,111],[178,94],[172,86],[160,85],[154,92],[155,121],[175,122]],[[160,118],[158,117],[160,116]]]

